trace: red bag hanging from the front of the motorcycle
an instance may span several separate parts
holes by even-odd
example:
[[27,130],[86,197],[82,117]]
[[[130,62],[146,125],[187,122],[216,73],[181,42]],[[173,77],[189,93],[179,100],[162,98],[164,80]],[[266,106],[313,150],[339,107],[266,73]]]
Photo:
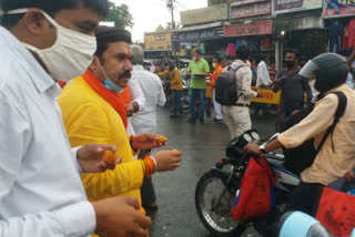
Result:
[[231,212],[235,221],[264,216],[275,206],[275,176],[266,158],[251,158]]

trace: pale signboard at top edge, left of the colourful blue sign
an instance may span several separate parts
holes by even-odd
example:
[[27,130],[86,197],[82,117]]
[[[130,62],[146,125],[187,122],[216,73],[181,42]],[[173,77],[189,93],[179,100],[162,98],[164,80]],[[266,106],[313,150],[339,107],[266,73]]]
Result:
[[275,0],[274,13],[288,13],[323,8],[323,0]]

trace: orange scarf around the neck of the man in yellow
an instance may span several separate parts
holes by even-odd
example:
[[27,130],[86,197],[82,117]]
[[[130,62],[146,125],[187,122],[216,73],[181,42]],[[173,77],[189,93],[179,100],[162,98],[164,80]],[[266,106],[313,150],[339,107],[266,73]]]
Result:
[[126,121],[126,110],[124,102],[122,97],[103,86],[103,84],[99,81],[99,79],[90,71],[87,71],[82,78],[85,80],[85,82],[98,93],[103,97],[111,106],[120,114],[124,127],[126,128],[128,121]]

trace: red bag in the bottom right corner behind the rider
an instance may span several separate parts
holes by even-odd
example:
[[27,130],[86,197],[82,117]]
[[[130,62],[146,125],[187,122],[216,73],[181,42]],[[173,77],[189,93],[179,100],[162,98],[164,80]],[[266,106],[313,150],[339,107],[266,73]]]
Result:
[[351,236],[355,228],[355,196],[324,187],[316,219],[335,236]]

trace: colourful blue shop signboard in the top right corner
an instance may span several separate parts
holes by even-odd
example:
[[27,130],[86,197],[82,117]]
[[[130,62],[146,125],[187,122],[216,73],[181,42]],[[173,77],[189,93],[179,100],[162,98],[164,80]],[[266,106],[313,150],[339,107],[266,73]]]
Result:
[[354,0],[326,0],[324,3],[325,18],[355,16]]

